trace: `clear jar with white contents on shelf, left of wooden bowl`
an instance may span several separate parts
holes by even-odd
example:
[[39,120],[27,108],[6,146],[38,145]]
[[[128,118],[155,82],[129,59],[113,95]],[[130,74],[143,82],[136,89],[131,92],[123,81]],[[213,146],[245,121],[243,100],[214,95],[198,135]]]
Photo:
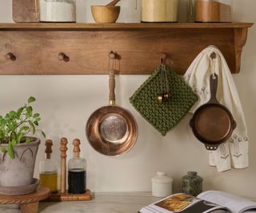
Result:
[[40,22],[76,22],[75,0],[39,0]]

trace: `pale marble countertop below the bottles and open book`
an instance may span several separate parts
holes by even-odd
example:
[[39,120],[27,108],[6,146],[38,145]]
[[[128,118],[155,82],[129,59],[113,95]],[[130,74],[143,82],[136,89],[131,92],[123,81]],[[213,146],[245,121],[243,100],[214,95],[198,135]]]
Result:
[[[40,213],[136,213],[159,200],[150,192],[96,193],[94,199],[81,202],[39,203]],[[0,213],[20,213],[14,205],[0,205]]]

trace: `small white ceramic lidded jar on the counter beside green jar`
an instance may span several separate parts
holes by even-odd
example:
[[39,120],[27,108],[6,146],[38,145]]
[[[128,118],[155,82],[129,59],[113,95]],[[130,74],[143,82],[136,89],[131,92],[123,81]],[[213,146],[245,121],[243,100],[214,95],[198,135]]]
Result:
[[154,197],[166,197],[172,194],[173,179],[166,172],[158,172],[152,179],[152,195]]

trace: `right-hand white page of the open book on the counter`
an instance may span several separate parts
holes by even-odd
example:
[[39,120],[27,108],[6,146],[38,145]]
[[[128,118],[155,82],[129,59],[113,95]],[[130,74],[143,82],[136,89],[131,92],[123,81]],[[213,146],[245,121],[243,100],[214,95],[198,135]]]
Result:
[[256,209],[255,202],[223,191],[205,191],[198,195],[198,198],[226,207],[232,213],[242,213],[246,210]]

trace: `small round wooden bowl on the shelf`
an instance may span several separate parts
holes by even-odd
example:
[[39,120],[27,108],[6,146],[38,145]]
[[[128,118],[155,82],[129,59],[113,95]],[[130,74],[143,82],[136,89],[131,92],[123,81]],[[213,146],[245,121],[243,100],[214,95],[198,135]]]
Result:
[[114,23],[120,14],[120,6],[91,6],[91,13],[97,23]]

